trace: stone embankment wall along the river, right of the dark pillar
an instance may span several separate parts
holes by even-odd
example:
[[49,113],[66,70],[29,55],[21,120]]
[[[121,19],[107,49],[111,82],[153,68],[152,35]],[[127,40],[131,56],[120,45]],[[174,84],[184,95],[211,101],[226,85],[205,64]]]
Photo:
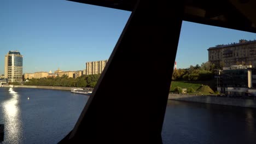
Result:
[[171,94],[171,93],[168,95],[168,99],[181,100],[181,101],[193,101],[197,103],[256,108],[256,100],[254,99],[216,97],[216,96],[207,96],[207,95]]

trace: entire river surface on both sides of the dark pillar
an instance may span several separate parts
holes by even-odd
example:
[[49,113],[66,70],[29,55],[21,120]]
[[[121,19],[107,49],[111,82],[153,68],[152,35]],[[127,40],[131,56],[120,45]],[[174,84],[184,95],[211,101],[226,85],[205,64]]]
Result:
[[[68,91],[0,88],[2,143],[59,142],[72,130],[87,100]],[[162,139],[163,143],[255,144],[256,109],[169,100]]]

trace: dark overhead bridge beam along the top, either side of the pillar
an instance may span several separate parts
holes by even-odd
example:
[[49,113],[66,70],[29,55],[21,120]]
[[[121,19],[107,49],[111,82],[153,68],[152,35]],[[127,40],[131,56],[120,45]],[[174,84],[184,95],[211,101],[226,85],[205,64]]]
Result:
[[[132,11],[136,0],[68,0],[86,4],[94,4],[102,7],[115,8]],[[175,7],[174,3],[168,5],[169,8]],[[174,5],[174,6],[173,6]],[[185,0],[184,7],[193,10],[184,13],[183,20],[236,29],[240,31],[256,33],[256,2],[248,0]],[[154,10],[155,8],[152,8]],[[201,11],[205,11],[202,16]],[[172,13],[170,13],[172,15]]]

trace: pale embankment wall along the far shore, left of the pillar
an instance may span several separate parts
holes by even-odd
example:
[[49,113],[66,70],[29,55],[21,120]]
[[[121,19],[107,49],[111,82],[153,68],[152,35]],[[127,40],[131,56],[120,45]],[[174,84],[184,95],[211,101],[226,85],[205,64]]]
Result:
[[[3,87],[10,87],[9,85],[3,85]],[[54,87],[54,86],[21,86],[21,85],[14,85],[14,87],[22,87],[22,88],[42,88],[42,89],[55,89],[55,90],[63,90],[63,91],[71,91],[73,87]],[[93,89],[93,88],[86,88],[86,89]]]

